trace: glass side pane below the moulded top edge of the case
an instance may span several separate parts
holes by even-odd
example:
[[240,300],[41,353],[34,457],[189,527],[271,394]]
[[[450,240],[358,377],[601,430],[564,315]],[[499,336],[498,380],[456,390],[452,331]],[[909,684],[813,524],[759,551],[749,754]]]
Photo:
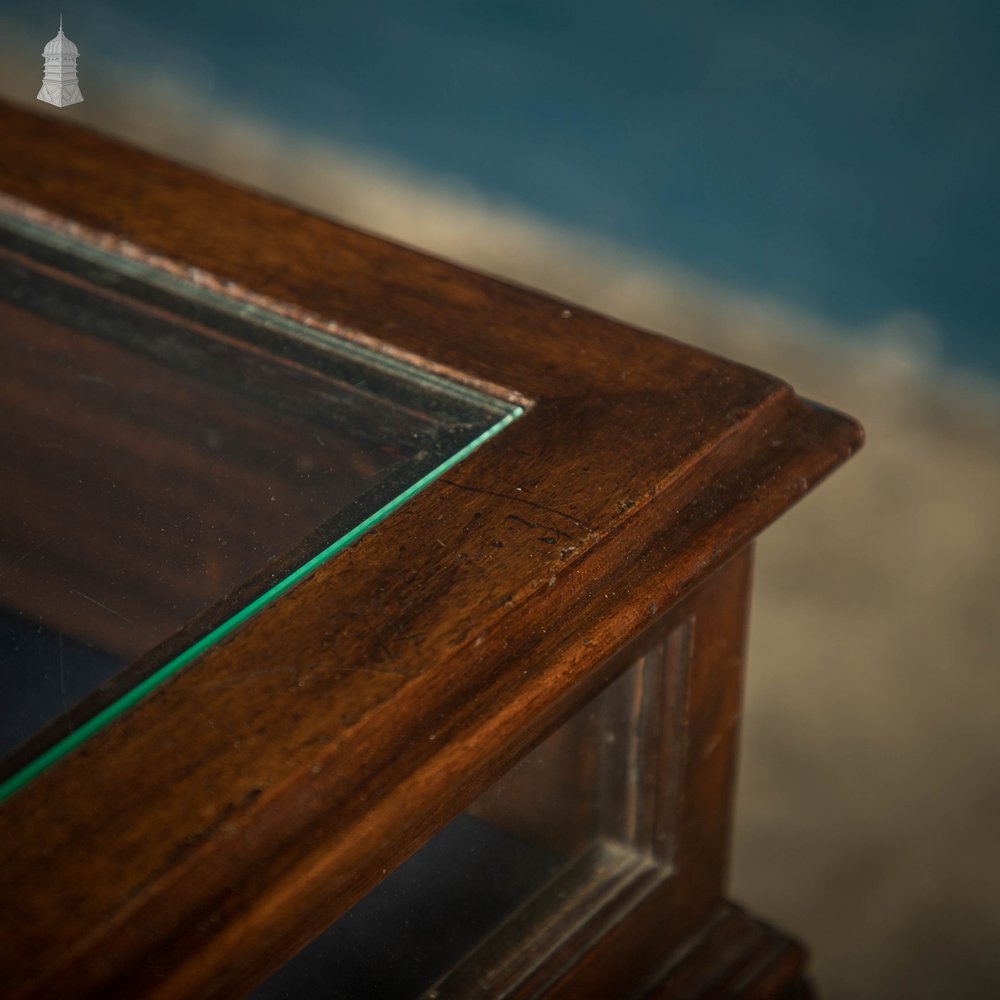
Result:
[[[491,996],[631,887],[669,874],[684,747],[681,626],[254,994]],[[622,902],[622,905],[625,905]]]

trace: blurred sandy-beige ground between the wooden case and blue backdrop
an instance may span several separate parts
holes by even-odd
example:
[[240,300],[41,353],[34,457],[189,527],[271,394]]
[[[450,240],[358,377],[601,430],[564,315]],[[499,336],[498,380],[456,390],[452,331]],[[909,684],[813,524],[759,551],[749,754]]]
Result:
[[[37,75],[34,56],[9,63],[0,91]],[[865,450],[758,545],[733,896],[809,942],[829,1000],[1000,995],[993,387],[944,374],[919,317],[833,329],[453,178],[200,107],[167,81],[82,80],[85,103],[49,113],[737,358],[858,417]]]

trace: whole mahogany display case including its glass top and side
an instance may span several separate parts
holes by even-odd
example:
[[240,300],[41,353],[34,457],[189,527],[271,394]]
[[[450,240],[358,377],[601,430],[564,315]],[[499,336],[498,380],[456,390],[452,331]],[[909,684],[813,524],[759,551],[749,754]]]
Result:
[[0,994],[807,995],[725,900],[751,545],[858,426],[0,134]]

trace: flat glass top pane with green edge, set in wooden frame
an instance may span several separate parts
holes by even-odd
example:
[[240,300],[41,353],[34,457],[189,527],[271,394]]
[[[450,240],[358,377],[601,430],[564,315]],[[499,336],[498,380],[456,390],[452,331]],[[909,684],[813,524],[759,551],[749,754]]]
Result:
[[519,412],[0,220],[0,794]]

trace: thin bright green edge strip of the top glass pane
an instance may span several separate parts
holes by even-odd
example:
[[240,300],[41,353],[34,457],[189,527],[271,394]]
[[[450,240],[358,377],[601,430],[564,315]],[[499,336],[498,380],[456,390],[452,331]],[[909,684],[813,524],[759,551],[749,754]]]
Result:
[[356,541],[369,528],[374,527],[374,525],[384,520],[391,513],[393,513],[393,511],[398,510],[399,507],[406,503],[406,501],[411,497],[419,493],[425,486],[433,482],[433,480],[437,479],[438,476],[447,472],[453,466],[457,465],[463,458],[470,455],[484,442],[499,434],[500,431],[502,431],[509,424],[513,423],[513,421],[515,421],[523,413],[523,407],[512,407],[511,411],[505,417],[497,421],[491,427],[487,428],[482,434],[479,435],[479,437],[470,441],[464,448],[455,452],[455,454],[450,458],[445,459],[444,462],[432,469],[421,479],[418,479],[415,483],[413,483],[413,485],[408,486],[402,493],[399,494],[399,496],[390,500],[389,503],[385,504],[383,507],[380,507],[374,514],[365,518],[364,521],[352,528],[346,534],[341,535],[341,537],[335,542],[332,542],[321,552],[307,560],[298,569],[289,573],[289,575],[284,579],[279,580],[273,587],[270,588],[270,590],[265,591],[258,598],[251,601],[241,611],[238,611],[231,618],[226,619],[226,621],[224,621],[221,625],[216,626],[211,632],[203,636],[193,645],[189,646],[183,653],[175,656],[169,663],[164,664],[155,673],[150,674],[150,676],[145,680],[140,681],[135,687],[130,688],[117,701],[112,702],[92,718],[88,719],[78,729],[74,729],[73,732],[64,736],[58,743],[39,754],[30,763],[25,764],[20,771],[0,783],[0,802],[5,801],[18,789],[23,788],[33,778],[36,778],[39,774],[47,770],[71,750],[74,750],[85,740],[93,736],[93,734],[98,730],[102,729],[109,722],[114,721],[124,712],[128,711],[128,709],[149,694],[150,691],[154,690],[165,680],[173,677],[174,674],[178,673],[193,660],[197,659],[202,653],[215,645],[215,643],[217,643],[220,639],[225,638],[225,636],[235,631],[244,622],[253,617],[253,615],[255,615],[258,611],[266,607],[266,605],[268,605],[276,597],[280,597],[286,591],[294,587],[295,584],[308,576],[314,569],[316,569],[317,566],[322,565],[338,552],[342,552],[348,545]]

